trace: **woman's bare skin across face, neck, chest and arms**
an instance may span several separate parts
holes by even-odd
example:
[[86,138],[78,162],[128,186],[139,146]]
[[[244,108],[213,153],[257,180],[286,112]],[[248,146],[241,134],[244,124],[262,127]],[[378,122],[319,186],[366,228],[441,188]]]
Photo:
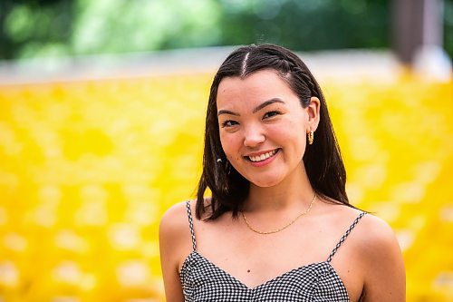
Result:
[[[320,101],[312,97],[303,108],[288,84],[275,71],[265,70],[245,79],[223,79],[217,109],[226,158],[250,181],[244,209],[250,224],[264,231],[279,229],[308,209],[313,189],[302,161],[304,133],[316,130]],[[248,159],[267,151],[276,153],[265,165]],[[270,235],[256,234],[242,217],[232,219],[230,213],[215,221],[194,219],[198,253],[246,287],[256,287],[294,268],[325,261],[359,214],[317,198],[307,215]],[[178,272],[192,251],[184,203],[165,213],[159,236],[167,301],[184,301]],[[405,301],[400,247],[383,220],[365,215],[331,263],[351,301],[362,293],[366,302]]]

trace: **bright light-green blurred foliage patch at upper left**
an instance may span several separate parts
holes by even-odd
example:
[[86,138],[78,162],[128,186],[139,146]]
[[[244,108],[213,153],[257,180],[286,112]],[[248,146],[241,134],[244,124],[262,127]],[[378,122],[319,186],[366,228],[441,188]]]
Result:
[[[77,54],[218,44],[214,1],[80,0],[72,46]],[[217,33],[216,33],[217,32]]]

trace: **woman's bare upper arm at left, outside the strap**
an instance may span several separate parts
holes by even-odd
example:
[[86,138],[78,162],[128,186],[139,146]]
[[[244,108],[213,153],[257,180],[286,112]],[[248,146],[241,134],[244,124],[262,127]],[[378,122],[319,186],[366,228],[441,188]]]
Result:
[[178,203],[163,215],[159,225],[160,265],[168,302],[182,302],[179,264],[190,252],[186,205]]

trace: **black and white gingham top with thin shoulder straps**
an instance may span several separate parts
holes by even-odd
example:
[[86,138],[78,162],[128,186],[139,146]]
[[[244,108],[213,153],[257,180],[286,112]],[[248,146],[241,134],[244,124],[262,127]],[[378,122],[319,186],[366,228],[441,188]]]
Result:
[[187,202],[187,209],[193,250],[179,272],[186,302],[349,302],[346,288],[332,267],[331,260],[342,242],[366,214],[365,212],[361,212],[354,220],[327,260],[294,268],[257,287],[250,288],[198,254],[189,202]]

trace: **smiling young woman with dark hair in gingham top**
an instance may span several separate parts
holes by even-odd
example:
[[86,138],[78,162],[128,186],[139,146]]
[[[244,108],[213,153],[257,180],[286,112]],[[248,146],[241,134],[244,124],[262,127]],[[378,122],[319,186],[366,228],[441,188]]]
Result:
[[167,301],[405,301],[398,242],[350,205],[345,180],[301,59],[237,49],[211,86],[198,199],[161,220]]

